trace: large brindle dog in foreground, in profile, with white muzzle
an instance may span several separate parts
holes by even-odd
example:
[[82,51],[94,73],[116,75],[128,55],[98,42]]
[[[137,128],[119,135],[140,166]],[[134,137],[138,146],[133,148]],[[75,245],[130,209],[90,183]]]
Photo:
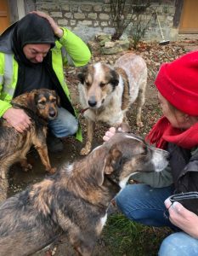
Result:
[[68,237],[78,255],[91,255],[110,201],[133,172],[160,172],[167,156],[139,137],[116,133],[0,205],[0,255],[30,255],[60,236]]

